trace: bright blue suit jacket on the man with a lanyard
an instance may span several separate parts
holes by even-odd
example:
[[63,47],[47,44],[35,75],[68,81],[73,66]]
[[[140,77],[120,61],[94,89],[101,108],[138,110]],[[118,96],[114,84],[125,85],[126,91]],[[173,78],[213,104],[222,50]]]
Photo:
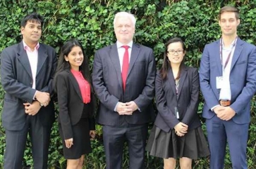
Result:
[[[202,116],[211,119],[211,108],[219,104],[216,77],[222,76],[219,54],[220,40],[209,43],[202,53],[200,64],[200,87],[205,97]],[[235,123],[250,122],[250,100],[256,91],[256,48],[238,38],[233,53],[230,72],[231,108],[236,111]]]

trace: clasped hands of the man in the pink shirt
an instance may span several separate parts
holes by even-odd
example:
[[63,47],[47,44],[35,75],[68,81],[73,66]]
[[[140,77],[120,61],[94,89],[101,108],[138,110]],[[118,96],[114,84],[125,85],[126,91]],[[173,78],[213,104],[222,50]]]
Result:
[[28,114],[30,116],[35,116],[35,114],[38,113],[39,109],[41,109],[42,107],[41,104],[43,104],[44,107],[47,107],[47,105],[51,100],[49,93],[40,92],[40,91],[37,91],[35,93],[35,98],[37,100],[32,102],[32,104],[30,102],[23,103],[25,114]]

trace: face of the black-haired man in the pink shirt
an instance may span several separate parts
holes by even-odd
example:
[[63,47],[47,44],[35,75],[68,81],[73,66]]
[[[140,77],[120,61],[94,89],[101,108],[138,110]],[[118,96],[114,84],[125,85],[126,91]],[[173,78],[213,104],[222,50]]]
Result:
[[35,20],[28,20],[25,27],[21,27],[21,34],[25,43],[37,43],[42,35],[41,23]]

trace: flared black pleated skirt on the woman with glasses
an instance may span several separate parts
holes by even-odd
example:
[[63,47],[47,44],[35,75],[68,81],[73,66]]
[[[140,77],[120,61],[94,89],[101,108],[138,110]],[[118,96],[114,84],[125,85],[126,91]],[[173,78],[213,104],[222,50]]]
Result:
[[183,137],[176,135],[175,130],[165,133],[154,126],[147,142],[150,155],[161,158],[187,157],[197,159],[209,156],[209,148],[201,127],[188,130]]

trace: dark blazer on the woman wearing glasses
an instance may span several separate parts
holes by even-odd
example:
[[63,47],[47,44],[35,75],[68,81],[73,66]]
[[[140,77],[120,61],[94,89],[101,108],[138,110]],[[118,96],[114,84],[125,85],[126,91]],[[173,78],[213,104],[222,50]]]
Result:
[[[201,125],[197,116],[199,96],[198,71],[193,67],[184,67],[176,95],[173,72],[169,69],[167,79],[163,81],[159,72],[156,77],[157,114],[154,124],[168,133],[180,121],[188,125],[188,130]],[[178,108],[180,119],[175,116]]]

